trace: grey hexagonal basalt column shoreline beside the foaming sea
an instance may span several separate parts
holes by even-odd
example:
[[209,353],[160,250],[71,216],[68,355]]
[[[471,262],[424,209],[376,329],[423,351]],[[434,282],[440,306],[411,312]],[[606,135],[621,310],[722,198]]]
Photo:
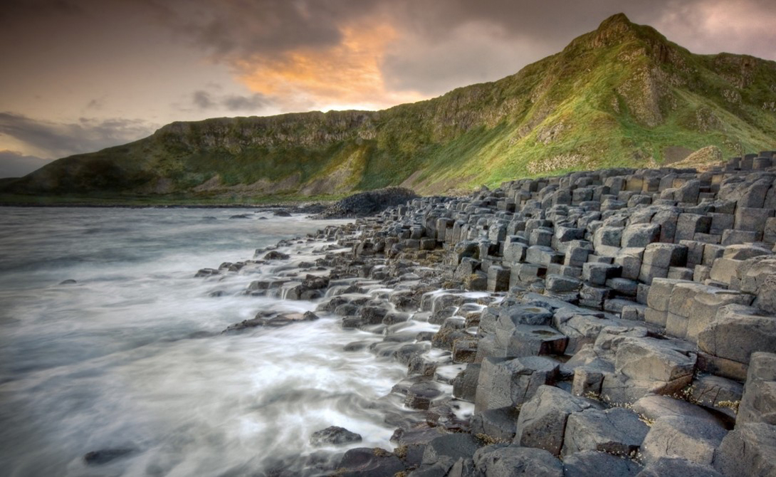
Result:
[[225,332],[337,316],[407,365],[393,450],[267,475],[776,475],[773,155],[413,199],[200,270],[285,263],[245,293],[317,302]]

